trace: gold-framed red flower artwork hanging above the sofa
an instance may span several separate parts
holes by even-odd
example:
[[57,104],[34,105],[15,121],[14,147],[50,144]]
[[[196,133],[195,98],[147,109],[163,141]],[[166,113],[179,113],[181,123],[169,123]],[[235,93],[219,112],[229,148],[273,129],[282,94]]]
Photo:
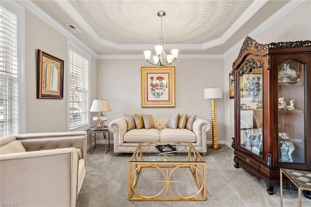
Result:
[[175,67],[141,67],[141,107],[175,107]]

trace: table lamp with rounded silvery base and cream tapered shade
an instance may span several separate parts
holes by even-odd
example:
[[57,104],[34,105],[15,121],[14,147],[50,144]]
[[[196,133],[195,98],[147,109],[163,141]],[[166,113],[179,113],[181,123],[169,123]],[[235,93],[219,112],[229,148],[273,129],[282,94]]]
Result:
[[109,103],[107,100],[93,100],[91,109],[89,111],[99,112],[98,115],[93,117],[93,121],[97,122],[97,128],[103,128],[104,122],[108,120],[108,117],[103,114],[103,111],[111,111]]

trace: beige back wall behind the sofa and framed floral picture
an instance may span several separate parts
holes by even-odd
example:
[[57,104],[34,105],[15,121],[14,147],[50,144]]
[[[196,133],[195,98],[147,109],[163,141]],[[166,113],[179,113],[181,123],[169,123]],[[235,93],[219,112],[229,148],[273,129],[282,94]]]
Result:
[[[143,59],[98,60],[98,95],[109,100],[111,111],[105,112],[110,121],[125,113],[151,113],[168,116],[173,113],[196,114],[211,119],[211,100],[204,99],[204,89],[223,88],[223,59],[178,59],[175,62],[175,108],[141,108],[141,66]],[[217,100],[218,133],[223,140],[224,99]],[[210,138],[208,134],[208,140]]]

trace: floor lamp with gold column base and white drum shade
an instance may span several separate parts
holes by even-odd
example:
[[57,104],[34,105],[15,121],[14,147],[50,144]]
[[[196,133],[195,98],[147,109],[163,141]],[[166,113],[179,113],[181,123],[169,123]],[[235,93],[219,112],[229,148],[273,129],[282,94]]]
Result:
[[223,90],[221,88],[206,88],[204,89],[204,98],[212,99],[212,139],[213,145],[210,149],[220,150],[222,147],[218,146],[217,138],[217,108],[215,98],[223,98]]

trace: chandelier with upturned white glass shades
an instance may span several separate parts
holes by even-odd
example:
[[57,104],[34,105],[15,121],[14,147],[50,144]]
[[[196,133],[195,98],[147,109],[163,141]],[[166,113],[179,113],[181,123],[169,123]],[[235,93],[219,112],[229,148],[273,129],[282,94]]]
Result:
[[148,63],[156,65],[156,66],[168,66],[177,60],[178,49],[172,49],[171,55],[167,55],[163,48],[163,35],[162,35],[162,16],[165,16],[166,13],[164,11],[159,11],[157,16],[161,17],[161,35],[160,35],[160,45],[155,46],[156,55],[153,56],[153,59],[150,60],[151,51],[144,51],[145,59]]

